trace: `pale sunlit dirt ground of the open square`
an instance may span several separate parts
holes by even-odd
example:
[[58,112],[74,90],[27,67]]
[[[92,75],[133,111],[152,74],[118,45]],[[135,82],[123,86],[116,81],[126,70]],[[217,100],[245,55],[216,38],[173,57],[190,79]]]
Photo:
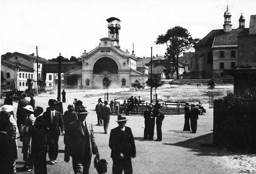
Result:
[[[118,93],[118,91],[125,91]],[[226,95],[228,90],[233,90],[232,85],[216,86],[214,89],[216,98]],[[98,98],[104,99],[106,90],[71,90],[65,89],[67,102],[63,103],[64,110],[67,110],[68,104],[73,103],[73,98],[81,100],[90,111],[86,120],[94,125],[97,123],[97,115],[94,111]],[[128,99],[131,95],[141,96],[149,102],[150,91],[134,91],[127,92],[128,89],[109,89],[109,93],[113,94],[110,99],[120,98],[120,100]],[[207,96],[207,86],[191,86],[191,85],[165,85],[157,90],[158,99],[160,101],[189,101],[197,103],[198,100],[204,102],[207,109],[205,115],[200,115],[196,134],[183,132],[184,115],[165,115],[162,124],[162,141],[144,140],[144,118],[140,115],[129,115],[127,122],[128,127],[132,128],[135,144],[137,148],[137,157],[132,159],[134,174],[237,174],[237,173],[256,173],[256,156],[247,153],[234,153],[227,149],[219,149],[216,147],[205,147],[201,143],[209,143],[212,141],[213,135],[213,109],[209,108],[209,98]],[[154,93],[154,91],[153,91]],[[86,96],[86,98],[84,97]],[[47,107],[47,101],[50,98],[56,98],[57,91],[52,94],[42,93],[35,96],[36,106],[42,106],[44,110]],[[26,98],[29,100],[30,98]],[[1,101],[2,102],[2,101]],[[17,103],[13,103],[14,113],[16,113]],[[16,115],[15,115],[16,117]],[[108,172],[111,174],[112,160],[110,157],[111,149],[108,146],[109,133],[118,124],[116,115],[111,115],[108,134],[104,134],[103,127],[94,126],[94,135],[100,157],[108,162]],[[154,133],[156,139],[156,127]],[[17,174],[29,174],[23,171],[21,167],[24,165],[22,161],[21,142],[18,139],[18,159]],[[90,174],[97,174],[93,165],[95,155],[92,157],[90,166]],[[48,160],[48,157],[47,157]],[[48,164],[48,174],[73,174],[72,161],[64,162],[64,143],[63,136],[59,140],[58,163],[54,166]],[[34,171],[32,171],[32,174]]]

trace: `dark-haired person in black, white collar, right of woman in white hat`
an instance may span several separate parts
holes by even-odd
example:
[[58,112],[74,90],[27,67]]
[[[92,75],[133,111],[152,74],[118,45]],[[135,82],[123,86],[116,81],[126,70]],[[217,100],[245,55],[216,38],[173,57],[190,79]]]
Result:
[[36,119],[31,130],[31,156],[34,161],[34,174],[47,174],[47,123],[43,118],[43,108],[35,107],[34,116]]

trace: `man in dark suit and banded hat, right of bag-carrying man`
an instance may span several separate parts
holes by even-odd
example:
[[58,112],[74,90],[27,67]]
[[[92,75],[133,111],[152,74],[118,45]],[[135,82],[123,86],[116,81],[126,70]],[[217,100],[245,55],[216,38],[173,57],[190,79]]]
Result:
[[132,174],[132,159],[136,157],[136,148],[132,130],[126,127],[126,119],[118,115],[116,121],[119,126],[111,130],[109,137],[109,147],[113,160],[112,174]]

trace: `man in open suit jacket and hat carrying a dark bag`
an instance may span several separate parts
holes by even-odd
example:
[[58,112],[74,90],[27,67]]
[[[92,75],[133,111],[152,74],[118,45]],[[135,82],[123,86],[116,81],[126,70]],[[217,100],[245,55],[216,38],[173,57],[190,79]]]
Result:
[[89,174],[92,153],[96,154],[99,160],[98,147],[94,138],[92,123],[85,122],[88,115],[85,106],[78,107],[78,119],[69,123],[65,138],[64,161],[72,157],[73,170],[75,174]]

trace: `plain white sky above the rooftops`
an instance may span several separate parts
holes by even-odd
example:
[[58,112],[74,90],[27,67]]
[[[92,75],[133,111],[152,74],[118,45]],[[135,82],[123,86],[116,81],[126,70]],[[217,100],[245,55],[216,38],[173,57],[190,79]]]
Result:
[[[193,38],[222,29],[226,0],[0,0],[1,54],[35,53],[45,59],[80,57],[108,37],[109,17],[121,20],[120,49],[136,56],[164,55],[166,46],[154,43],[174,26],[188,29]],[[256,15],[256,0],[229,0],[232,28],[241,13],[245,27]]]

